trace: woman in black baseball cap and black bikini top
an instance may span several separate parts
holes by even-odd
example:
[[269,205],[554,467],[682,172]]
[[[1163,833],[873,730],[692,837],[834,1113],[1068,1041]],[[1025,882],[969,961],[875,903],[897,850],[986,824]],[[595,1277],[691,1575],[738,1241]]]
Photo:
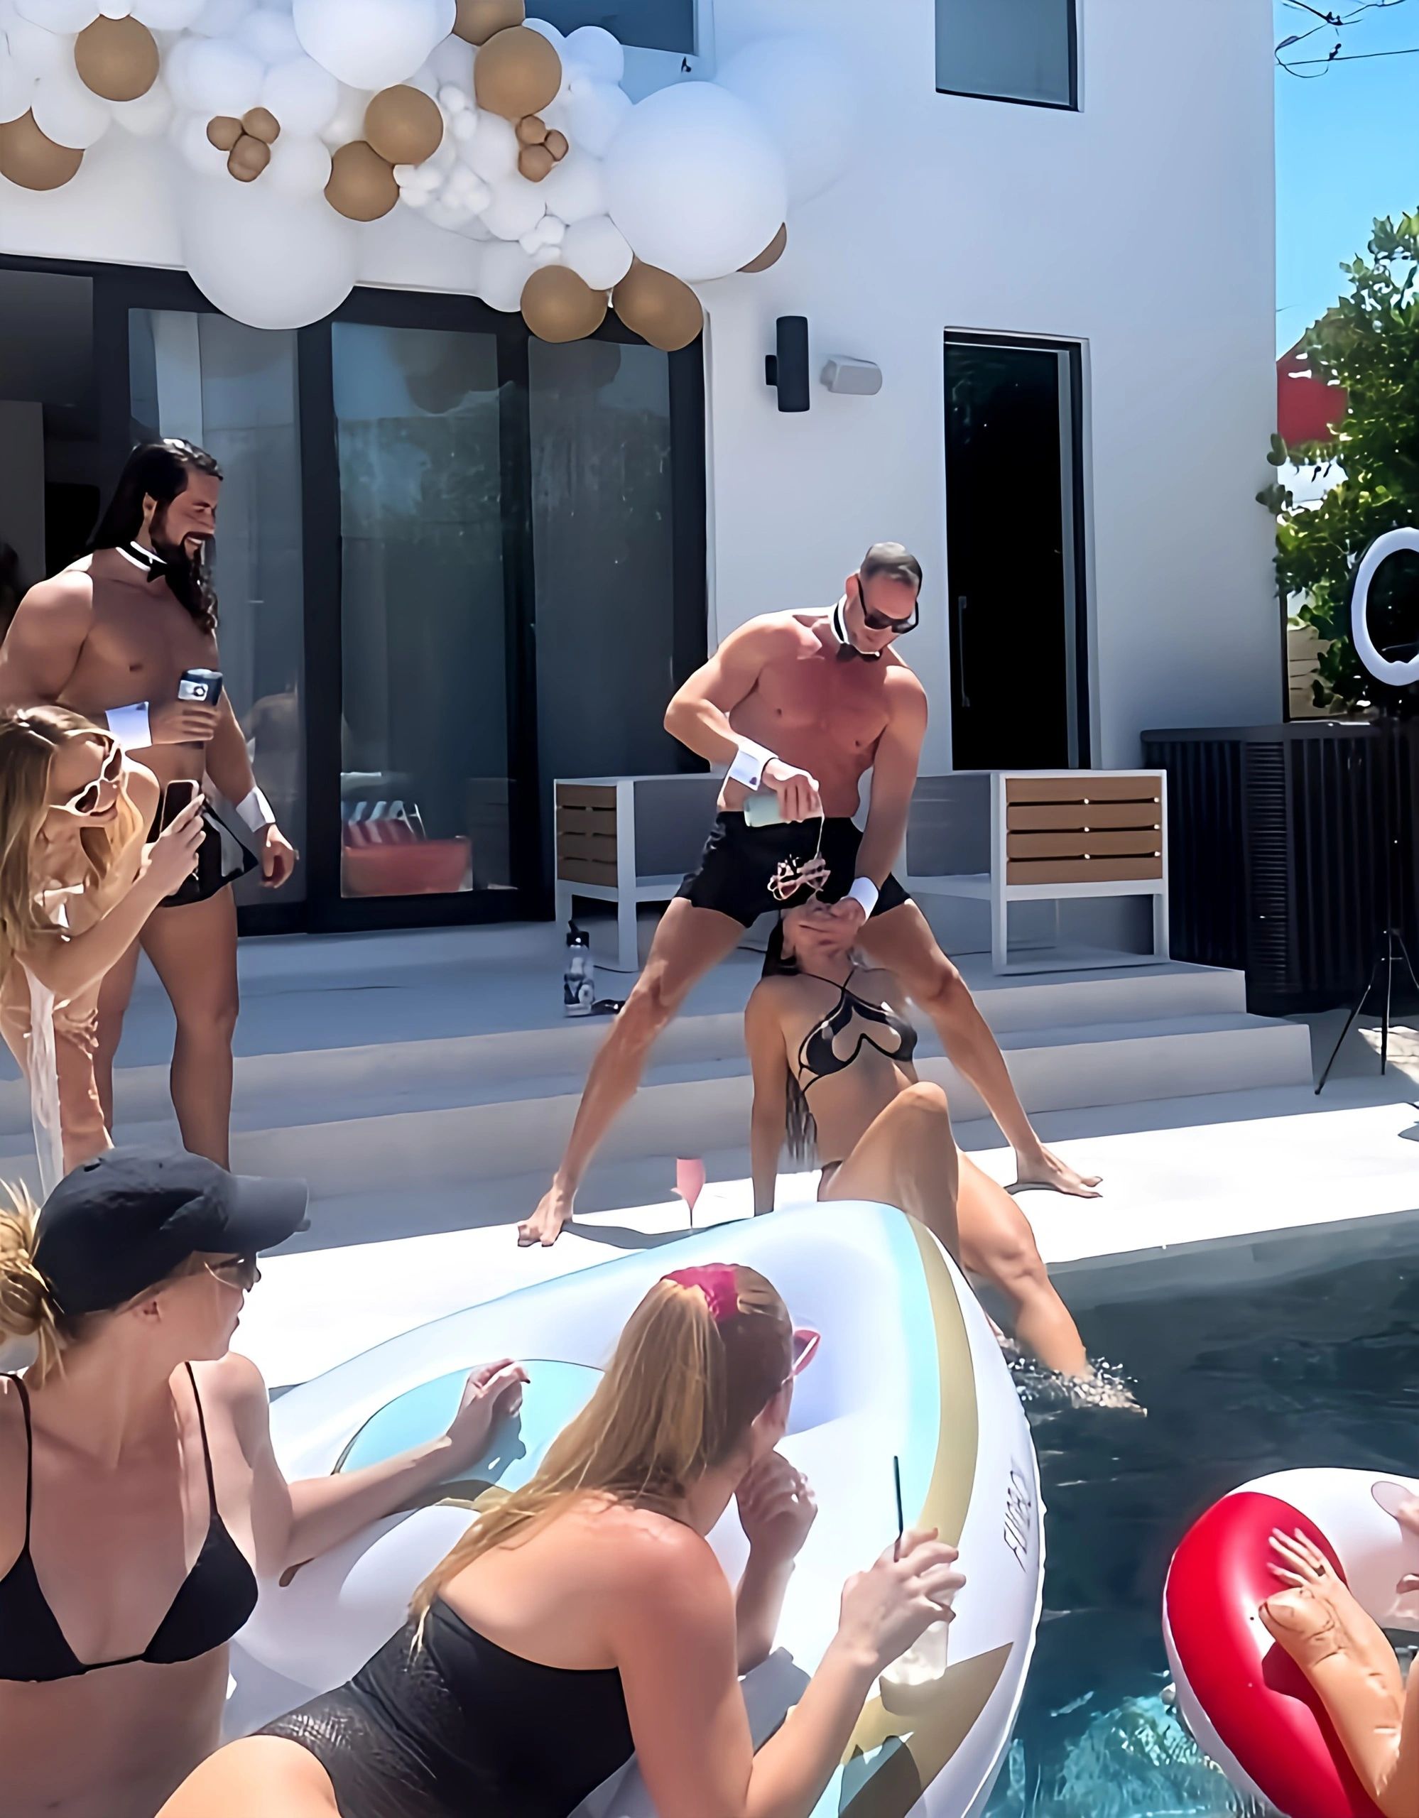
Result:
[[229,1351],[306,1187],[111,1149],[0,1213],[0,1760],[7,1818],[153,1818],[220,1740],[257,1574],[338,1545],[471,1463],[520,1396],[469,1376],[433,1445],[287,1483],[266,1383]]

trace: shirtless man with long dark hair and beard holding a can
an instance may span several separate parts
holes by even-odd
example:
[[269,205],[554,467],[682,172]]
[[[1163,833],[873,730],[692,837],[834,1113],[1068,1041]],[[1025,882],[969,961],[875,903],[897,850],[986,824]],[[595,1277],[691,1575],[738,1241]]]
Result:
[[[262,882],[275,889],[297,854],[257,787],[231,700],[226,691],[216,707],[176,698],[187,669],[220,669],[206,569],[220,487],[216,462],[189,442],[136,447],[91,554],[20,602],[0,645],[0,707],[58,704],[107,725],[164,791],[180,780],[200,784],[206,769],[251,831]],[[95,1058],[111,1129],[113,1056],[142,945],[176,1014],[171,1080],[184,1147],[222,1167],[236,1029],[236,907],[227,885],[236,874],[209,822],[193,878],[153,913],[104,980]]]

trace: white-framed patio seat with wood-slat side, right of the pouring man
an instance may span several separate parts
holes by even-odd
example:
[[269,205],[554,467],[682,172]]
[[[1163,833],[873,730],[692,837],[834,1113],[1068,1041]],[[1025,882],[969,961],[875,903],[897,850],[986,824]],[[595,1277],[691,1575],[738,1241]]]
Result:
[[[988,793],[990,869],[921,876],[911,873],[904,854],[902,884],[917,898],[988,902],[990,956],[997,973],[1152,965],[1168,958],[1168,780],[1162,771],[979,771],[957,773],[950,785],[959,804],[968,804],[977,789]],[[1097,896],[1152,898],[1153,951],[1011,960],[1011,904]]]

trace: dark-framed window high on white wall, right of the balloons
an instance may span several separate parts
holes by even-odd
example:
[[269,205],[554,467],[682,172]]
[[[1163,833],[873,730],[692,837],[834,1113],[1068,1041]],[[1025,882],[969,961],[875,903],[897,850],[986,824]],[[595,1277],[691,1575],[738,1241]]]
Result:
[[1075,107],[1077,0],[937,0],[937,87]]

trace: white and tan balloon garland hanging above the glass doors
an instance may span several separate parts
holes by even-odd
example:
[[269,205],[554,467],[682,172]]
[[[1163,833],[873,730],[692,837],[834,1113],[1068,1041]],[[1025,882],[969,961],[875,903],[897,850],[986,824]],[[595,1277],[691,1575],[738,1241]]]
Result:
[[166,135],[187,267],[240,322],[320,320],[402,204],[478,242],[469,287],[533,335],[609,307],[673,351],[693,285],[773,265],[842,173],[851,75],[782,36],[637,104],[624,75],[609,31],[522,0],[0,0],[0,178],[58,189],[111,127]]

